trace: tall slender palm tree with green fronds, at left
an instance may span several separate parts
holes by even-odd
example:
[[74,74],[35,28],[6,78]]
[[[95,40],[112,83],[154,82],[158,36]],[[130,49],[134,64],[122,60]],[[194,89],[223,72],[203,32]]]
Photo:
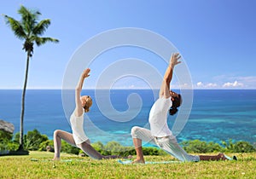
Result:
[[44,43],[53,42],[58,43],[59,40],[55,38],[42,38],[46,29],[50,25],[50,20],[41,20],[38,22],[38,16],[41,15],[39,11],[33,11],[26,9],[24,6],[20,6],[18,14],[21,15],[21,20],[15,20],[12,17],[9,17],[6,14],[3,14],[6,24],[11,28],[15,33],[16,38],[25,41],[23,43],[23,49],[26,52],[26,74],[25,82],[22,91],[21,99],[21,111],[20,111],[20,147],[18,151],[24,151],[24,141],[23,141],[23,118],[25,111],[25,95],[26,95],[26,83],[28,76],[28,66],[29,60],[33,54],[33,45],[36,43],[38,46],[43,45]]

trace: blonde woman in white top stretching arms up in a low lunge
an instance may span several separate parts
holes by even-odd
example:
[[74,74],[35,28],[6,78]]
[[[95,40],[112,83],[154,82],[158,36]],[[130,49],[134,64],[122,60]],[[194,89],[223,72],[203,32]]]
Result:
[[90,76],[90,69],[87,68],[81,74],[79,79],[79,84],[75,90],[75,103],[76,108],[73,111],[73,114],[70,117],[70,123],[72,127],[73,134],[68,133],[63,130],[55,130],[54,132],[54,145],[55,145],[55,157],[53,160],[59,160],[61,154],[61,139],[67,141],[69,144],[79,147],[90,156],[92,159],[115,159],[119,156],[109,155],[103,156],[101,153],[98,153],[91,145],[90,140],[84,134],[84,113],[88,113],[92,105],[92,100],[89,95],[81,96],[82,87],[84,84],[84,79]]

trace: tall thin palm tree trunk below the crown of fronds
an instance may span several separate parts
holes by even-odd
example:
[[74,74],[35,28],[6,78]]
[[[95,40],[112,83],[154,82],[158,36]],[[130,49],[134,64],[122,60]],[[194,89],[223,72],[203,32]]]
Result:
[[25,74],[25,82],[22,91],[22,99],[21,99],[21,112],[20,112],[20,147],[18,151],[24,151],[24,140],[23,140],[23,119],[25,112],[25,95],[26,95],[26,83],[28,77],[28,67],[29,67],[29,57],[31,52],[28,50],[26,55],[26,74]]

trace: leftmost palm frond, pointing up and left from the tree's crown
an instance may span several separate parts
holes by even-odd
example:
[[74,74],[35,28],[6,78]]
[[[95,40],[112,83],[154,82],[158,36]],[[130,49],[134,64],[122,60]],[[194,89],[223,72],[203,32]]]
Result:
[[10,28],[15,33],[15,36],[19,39],[25,39],[26,38],[26,32],[24,31],[24,28],[20,21],[15,20],[12,17],[9,17],[8,15],[4,15],[4,19],[6,20],[6,24],[10,26]]

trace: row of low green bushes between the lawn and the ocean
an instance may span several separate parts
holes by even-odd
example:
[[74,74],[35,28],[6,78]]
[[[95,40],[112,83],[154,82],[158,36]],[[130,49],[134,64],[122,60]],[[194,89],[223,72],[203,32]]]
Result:
[[[0,150],[15,150],[19,147],[20,133],[15,134],[14,139],[12,135],[0,131],[1,145]],[[30,151],[46,151],[46,147],[54,147],[54,142],[49,140],[46,135],[41,135],[38,130],[28,131],[24,136],[25,149]],[[222,141],[222,145],[214,142],[206,141],[183,141],[181,142],[183,149],[188,153],[253,153],[256,152],[256,148],[253,147],[247,141]],[[102,155],[136,155],[134,147],[125,147],[119,144],[117,141],[109,141],[106,145],[102,142],[97,141],[92,143],[99,153]],[[66,141],[61,141],[61,152],[62,153],[83,153],[78,147],[73,147]],[[143,147],[144,155],[166,155],[166,153],[160,150],[158,147]]]

